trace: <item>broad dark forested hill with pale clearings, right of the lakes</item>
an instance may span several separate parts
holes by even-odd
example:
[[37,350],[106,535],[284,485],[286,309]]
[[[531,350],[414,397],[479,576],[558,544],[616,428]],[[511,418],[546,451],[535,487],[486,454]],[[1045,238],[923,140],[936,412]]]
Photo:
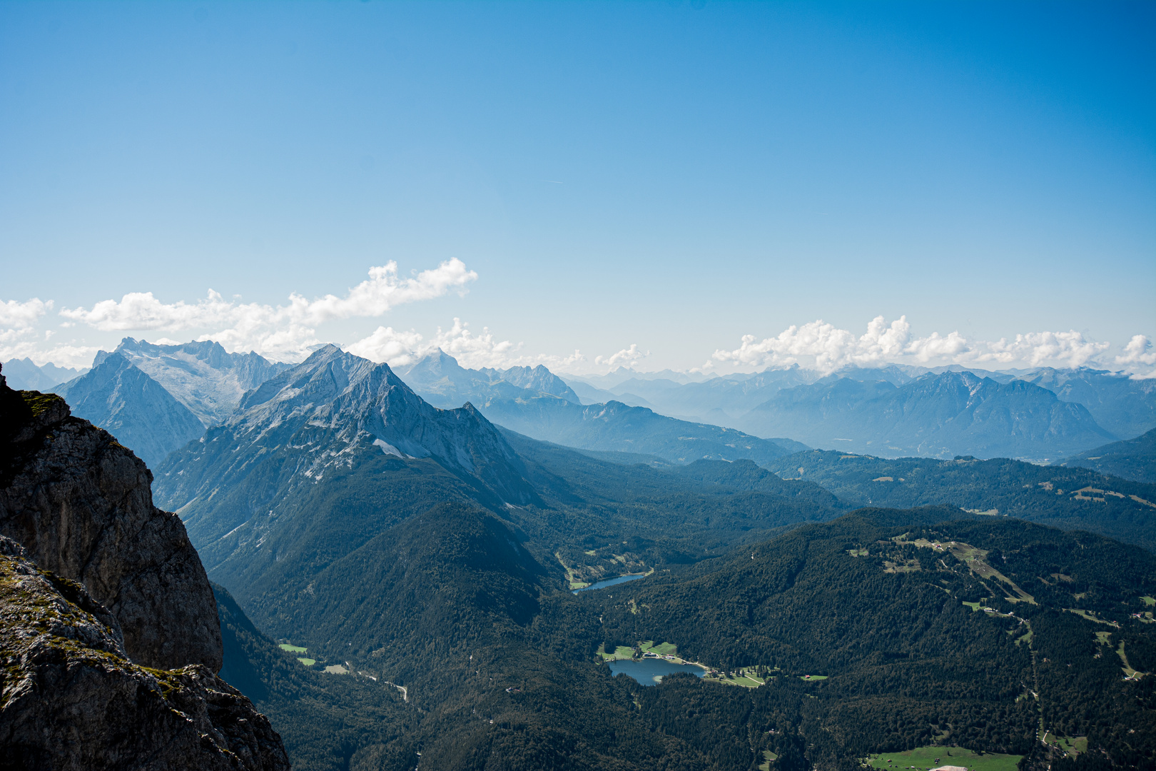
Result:
[[[776,676],[733,689],[728,706],[711,705],[720,689],[709,682],[665,683],[655,725],[738,711],[762,746],[788,750],[798,732],[810,761],[846,768],[931,743],[1044,763],[1045,731],[1087,736],[1094,765],[1156,762],[1153,681],[1132,674],[1156,667],[1156,557],[1016,520],[936,521],[946,516],[862,510],[579,603],[609,644],[669,640],[711,666]],[[691,743],[718,741],[712,722]]]

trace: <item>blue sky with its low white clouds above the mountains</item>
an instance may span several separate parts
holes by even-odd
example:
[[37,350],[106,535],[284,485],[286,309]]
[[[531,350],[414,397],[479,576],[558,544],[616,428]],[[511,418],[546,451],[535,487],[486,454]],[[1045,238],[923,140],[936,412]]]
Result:
[[1156,338],[1154,39],[1150,2],[0,3],[0,358],[1114,369]]

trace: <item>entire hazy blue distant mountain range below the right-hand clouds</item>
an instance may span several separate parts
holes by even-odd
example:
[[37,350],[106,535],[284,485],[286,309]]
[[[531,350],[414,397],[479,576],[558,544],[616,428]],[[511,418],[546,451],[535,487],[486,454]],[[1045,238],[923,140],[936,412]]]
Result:
[[[701,381],[568,378],[584,402],[618,399],[755,436],[876,455],[1057,459],[1156,427],[1156,380],[1082,368],[798,366]],[[1032,386],[1032,387],[1025,387]]]

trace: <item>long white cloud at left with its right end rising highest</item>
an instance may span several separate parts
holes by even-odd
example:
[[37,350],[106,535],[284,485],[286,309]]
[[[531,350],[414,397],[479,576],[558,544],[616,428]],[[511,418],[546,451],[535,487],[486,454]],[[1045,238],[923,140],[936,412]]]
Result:
[[229,350],[295,358],[320,342],[316,333],[320,324],[381,316],[395,305],[439,297],[453,289],[465,291],[466,284],[477,279],[457,258],[409,279],[398,277],[393,261],[370,268],[369,275],[343,297],[325,295],[310,301],[295,292],[287,305],[228,301],[212,289],[195,303],[163,303],[153,292],[129,292],[91,309],[61,310],[60,316],[102,332],[207,329],[200,340],[216,340]]

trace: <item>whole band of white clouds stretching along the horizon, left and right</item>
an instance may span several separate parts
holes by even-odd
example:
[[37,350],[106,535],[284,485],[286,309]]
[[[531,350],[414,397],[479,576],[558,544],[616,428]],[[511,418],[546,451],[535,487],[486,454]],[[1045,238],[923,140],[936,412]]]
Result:
[[[338,319],[378,318],[398,305],[442,297],[451,291],[465,294],[477,273],[454,258],[436,268],[401,279],[394,261],[371,267],[369,279],[338,297],[325,295],[307,299],[291,294],[286,305],[242,303],[218,292],[197,302],[164,303],[153,292],[129,292],[119,301],[104,299],[91,307],[61,309],[55,329],[44,328],[54,309],[52,299],[0,301],[0,361],[30,357],[37,363],[86,366],[98,350],[83,339],[54,343],[61,329],[77,326],[98,332],[192,333],[195,340],[215,340],[230,351],[253,350],[277,361],[301,361],[320,344],[318,327]],[[175,342],[153,338],[154,342]],[[444,350],[468,368],[509,368],[544,364],[569,373],[610,371],[620,366],[638,368],[650,351],[630,343],[621,350],[587,358],[580,350],[568,355],[528,353],[523,343],[501,340],[489,328],[474,334],[459,318],[425,338],[415,329],[378,326],[365,338],[346,346],[350,353],[376,362],[402,366],[420,357]],[[778,335],[743,335],[734,349],[718,349],[697,372],[751,371],[775,366],[800,366],[823,373],[843,366],[881,366],[889,363],[934,366],[961,364],[986,369],[1044,365],[1077,368],[1092,365],[1156,377],[1156,349],[1146,335],[1133,335],[1112,355],[1112,343],[1088,340],[1076,331],[1028,332],[1000,340],[968,340],[958,332],[933,332],[916,336],[906,316],[887,323],[880,316],[857,335],[823,320],[792,325]]]

